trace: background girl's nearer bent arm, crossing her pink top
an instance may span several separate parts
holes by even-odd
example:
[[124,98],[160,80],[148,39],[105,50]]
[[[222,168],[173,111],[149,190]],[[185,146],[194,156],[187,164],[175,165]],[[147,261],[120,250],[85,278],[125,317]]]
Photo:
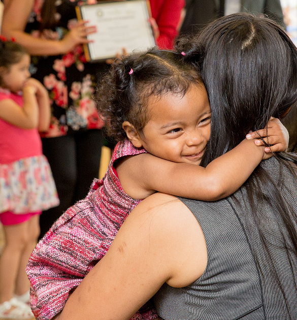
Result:
[[35,94],[35,87],[25,85],[22,108],[11,99],[0,101],[0,118],[23,129],[36,128],[39,120],[39,109]]

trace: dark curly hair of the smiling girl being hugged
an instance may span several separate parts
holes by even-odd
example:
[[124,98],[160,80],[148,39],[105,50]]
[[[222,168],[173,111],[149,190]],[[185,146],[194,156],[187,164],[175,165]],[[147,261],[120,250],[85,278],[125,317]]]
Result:
[[185,94],[202,82],[197,57],[151,48],[115,61],[97,87],[94,99],[114,142],[126,138],[122,123],[129,121],[142,133],[149,121],[149,97],[168,92]]

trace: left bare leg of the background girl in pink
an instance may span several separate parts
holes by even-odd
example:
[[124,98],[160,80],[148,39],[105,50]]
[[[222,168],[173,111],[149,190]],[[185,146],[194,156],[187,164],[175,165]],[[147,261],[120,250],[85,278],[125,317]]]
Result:
[[0,303],[9,301],[14,295],[20,261],[28,237],[27,225],[28,221],[25,221],[3,228],[5,246],[0,255]]

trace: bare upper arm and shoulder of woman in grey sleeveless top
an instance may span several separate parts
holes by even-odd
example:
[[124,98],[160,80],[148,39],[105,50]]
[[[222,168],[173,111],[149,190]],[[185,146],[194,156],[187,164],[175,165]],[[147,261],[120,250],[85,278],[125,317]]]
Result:
[[164,282],[188,285],[206,263],[204,235],[194,215],[175,197],[155,194],[130,213],[58,319],[129,319]]

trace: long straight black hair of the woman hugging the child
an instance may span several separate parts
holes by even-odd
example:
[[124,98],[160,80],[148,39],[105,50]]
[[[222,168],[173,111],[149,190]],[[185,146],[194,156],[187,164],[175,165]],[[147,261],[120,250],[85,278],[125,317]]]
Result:
[[[181,39],[177,51],[204,56],[197,63],[208,91],[212,111],[211,137],[202,159],[207,166],[213,159],[238,145],[252,130],[267,127],[271,116],[281,118],[297,101],[297,49],[285,31],[266,17],[234,14],[217,19],[206,26],[192,40]],[[296,124],[297,125],[297,124]],[[277,153],[280,170],[289,169],[296,176],[296,154]],[[286,303],[286,313],[292,319],[277,261],[273,258],[271,239],[265,233],[259,203],[267,203],[274,210],[276,223],[282,234],[291,270],[297,255],[297,217],[281,193],[285,185],[281,172],[274,182],[269,172],[258,166],[244,187],[247,190],[251,217],[257,229],[260,244],[268,259],[267,270],[280,287]],[[263,193],[265,190],[265,194]],[[235,197],[234,197],[235,198]],[[244,216],[244,213],[243,213]],[[250,218],[250,217],[249,217]],[[253,233],[247,219],[249,234]],[[285,233],[280,226],[285,226]],[[253,250],[256,261],[261,257]],[[264,270],[260,270],[263,274]],[[294,287],[297,285],[294,273]],[[291,306],[291,308],[294,306]]]

